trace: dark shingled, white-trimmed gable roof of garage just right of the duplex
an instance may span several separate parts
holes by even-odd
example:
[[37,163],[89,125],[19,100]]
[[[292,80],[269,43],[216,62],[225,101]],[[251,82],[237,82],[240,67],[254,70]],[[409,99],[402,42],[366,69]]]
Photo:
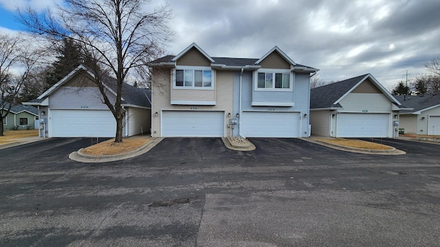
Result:
[[401,105],[391,93],[389,93],[382,84],[377,82],[377,80],[371,74],[359,75],[355,78],[350,78],[347,80],[342,80],[340,82],[334,82],[332,84],[327,84],[325,86],[319,86],[315,89],[310,90],[310,108],[311,109],[321,109],[321,108],[342,108],[339,102],[347,96],[351,91],[353,91],[357,86],[359,86],[366,79],[377,86],[377,88],[390,99],[391,102],[397,106]]

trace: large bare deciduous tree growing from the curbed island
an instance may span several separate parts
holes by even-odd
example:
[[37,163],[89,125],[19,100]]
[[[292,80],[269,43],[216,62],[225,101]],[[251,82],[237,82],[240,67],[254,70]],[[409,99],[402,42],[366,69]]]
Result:
[[[122,84],[136,71],[148,71],[146,63],[162,55],[172,32],[168,30],[168,5],[144,12],[146,0],[65,0],[57,13],[43,13],[31,8],[18,10],[21,23],[28,31],[50,40],[72,38],[80,45],[104,103],[116,120],[115,142],[122,142]],[[115,102],[104,86],[104,75],[116,79]]]

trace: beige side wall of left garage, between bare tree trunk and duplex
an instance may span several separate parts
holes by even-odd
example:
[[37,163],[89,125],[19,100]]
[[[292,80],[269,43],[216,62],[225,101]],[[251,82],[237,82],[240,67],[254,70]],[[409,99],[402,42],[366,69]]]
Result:
[[130,107],[128,110],[128,136],[148,134],[151,127],[151,110]]

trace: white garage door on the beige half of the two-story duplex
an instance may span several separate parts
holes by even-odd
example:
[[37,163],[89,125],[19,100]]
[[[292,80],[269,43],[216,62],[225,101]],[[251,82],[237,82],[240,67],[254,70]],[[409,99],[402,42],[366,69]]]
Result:
[[162,137],[223,137],[225,113],[218,111],[162,112]]

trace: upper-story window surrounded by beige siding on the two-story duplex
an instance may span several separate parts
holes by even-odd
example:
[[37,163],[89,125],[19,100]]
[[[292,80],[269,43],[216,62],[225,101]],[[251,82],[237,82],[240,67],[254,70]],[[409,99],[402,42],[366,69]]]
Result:
[[213,89],[210,67],[175,69],[175,89]]

